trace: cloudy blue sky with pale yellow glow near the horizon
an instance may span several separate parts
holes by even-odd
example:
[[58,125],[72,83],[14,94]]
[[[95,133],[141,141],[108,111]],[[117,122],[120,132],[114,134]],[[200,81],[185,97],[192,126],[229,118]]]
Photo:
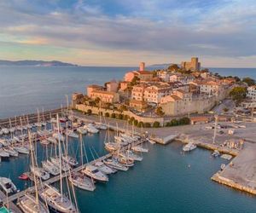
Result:
[[256,67],[255,0],[1,0],[0,59]]

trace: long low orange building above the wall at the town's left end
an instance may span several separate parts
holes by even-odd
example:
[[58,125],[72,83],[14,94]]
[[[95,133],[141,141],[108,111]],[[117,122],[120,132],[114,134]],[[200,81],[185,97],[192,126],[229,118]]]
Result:
[[94,90],[90,93],[90,98],[96,99],[99,98],[102,102],[105,103],[117,103],[119,102],[119,94],[115,92],[108,92],[104,90]]

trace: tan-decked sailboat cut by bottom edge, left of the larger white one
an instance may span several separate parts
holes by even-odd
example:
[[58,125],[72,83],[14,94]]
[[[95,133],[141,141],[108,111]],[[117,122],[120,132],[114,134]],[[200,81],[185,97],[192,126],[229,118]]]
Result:
[[37,201],[36,197],[32,194],[25,194],[20,197],[17,204],[20,209],[26,213],[49,213],[47,206],[40,200]]

